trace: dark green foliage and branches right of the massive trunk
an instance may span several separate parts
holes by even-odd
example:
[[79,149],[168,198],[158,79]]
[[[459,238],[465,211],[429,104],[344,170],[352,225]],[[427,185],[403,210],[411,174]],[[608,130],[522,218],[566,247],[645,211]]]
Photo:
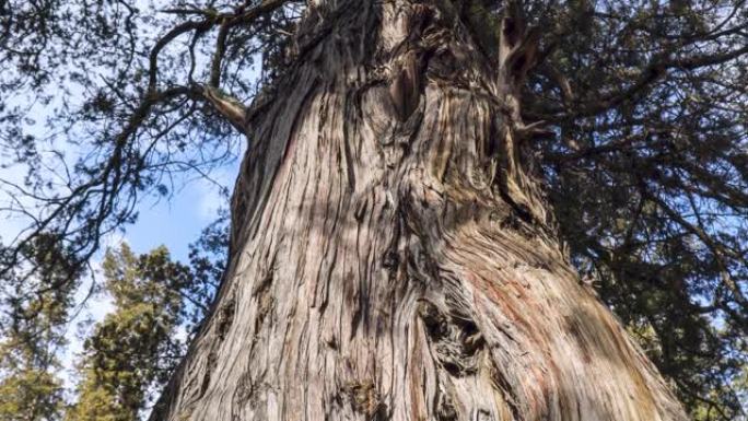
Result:
[[526,113],[557,133],[535,148],[574,264],[696,419],[747,417],[748,8],[530,3]]

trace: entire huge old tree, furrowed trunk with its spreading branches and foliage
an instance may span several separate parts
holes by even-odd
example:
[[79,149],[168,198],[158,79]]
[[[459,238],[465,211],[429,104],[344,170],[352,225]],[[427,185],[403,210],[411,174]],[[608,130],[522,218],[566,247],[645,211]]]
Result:
[[[580,289],[612,308],[692,413],[745,414],[744,1],[0,10],[0,86],[14,98],[4,157],[30,168],[3,185],[33,203],[3,209],[32,220],[4,246],[9,285],[31,279],[7,273],[33,266],[22,250],[34,238],[83,265],[141,197],[204,174],[246,137],[229,271],[154,419],[613,417],[606,405],[681,418]],[[80,104],[59,101],[71,90]],[[48,137],[30,131],[28,104],[56,109]],[[74,161],[63,141],[85,152]],[[16,290],[3,292],[27,300]],[[287,336],[288,354],[262,353]],[[421,355],[407,367],[424,377],[383,367],[402,360],[390,353]],[[591,363],[612,373],[600,387],[584,386]],[[393,389],[395,372],[416,386]],[[578,382],[564,383],[571,372]],[[594,397],[627,378],[652,387]],[[304,393],[319,396],[292,398]]]

